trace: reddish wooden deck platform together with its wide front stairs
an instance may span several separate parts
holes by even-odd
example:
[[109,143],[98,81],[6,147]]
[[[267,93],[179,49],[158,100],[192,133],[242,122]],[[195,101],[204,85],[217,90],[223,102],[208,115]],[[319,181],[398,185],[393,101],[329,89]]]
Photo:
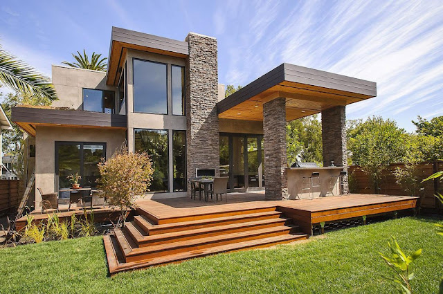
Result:
[[[306,239],[316,224],[413,209],[417,197],[351,194],[264,201],[263,192],[228,194],[228,203],[189,198],[138,201],[134,221],[103,241],[109,273],[221,252]],[[362,218],[363,219],[363,218]]]

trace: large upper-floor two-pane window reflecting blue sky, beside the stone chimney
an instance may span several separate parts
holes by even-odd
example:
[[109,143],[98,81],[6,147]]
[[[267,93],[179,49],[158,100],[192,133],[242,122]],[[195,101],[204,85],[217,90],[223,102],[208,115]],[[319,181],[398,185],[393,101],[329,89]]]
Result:
[[134,112],[186,115],[183,66],[141,59],[133,66]]

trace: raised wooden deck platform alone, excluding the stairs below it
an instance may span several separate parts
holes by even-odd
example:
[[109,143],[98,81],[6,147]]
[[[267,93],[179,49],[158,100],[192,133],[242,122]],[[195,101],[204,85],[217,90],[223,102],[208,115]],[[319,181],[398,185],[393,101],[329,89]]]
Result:
[[231,193],[228,203],[205,202],[189,198],[145,200],[138,202],[138,211],[144,212],[156,224],[205,219],[214,214],[241,214],[245,210],[270,209],[284,212],[287,217],[304,227],[311,235],[311,227],[323,222],[352,219],[385,212],[413,209],[419,197],[374,194],[348,194],[317,199],[265,201],[264,192]]

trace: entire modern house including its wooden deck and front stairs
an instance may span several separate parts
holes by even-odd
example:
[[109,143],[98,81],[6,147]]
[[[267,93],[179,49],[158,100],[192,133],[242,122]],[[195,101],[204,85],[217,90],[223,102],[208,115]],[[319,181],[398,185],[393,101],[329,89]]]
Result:
[[[347,194],[345,108],[377,95],[374,82],[281,64],[224,98],[217,39],[112,28],[106,72],[53,66],[53,84],[60,100],[52,107],[12,109],[35,144],[43,193],[69,187],[66,176],[75,172],[83,187],[94,187],[100,158],[122,146],[152,156],[150,192],[124,228],[104,237],[110,273],[305,239],[328,221],[417,203],[336,196]],[[286,124],[314,113],[321,113],[323,167],[288,167]],[[228,176],[229,191],[242,193],[226,204],[190,199],[188,178],[200,175]],[[317,199],[288,201],[307,198],[303,185],[313,176],[319,192],[311,185],[309,196]],[[335,196],[318,199],[325,192]],[[37,208],[40,201],[36,194]],[[26,217],[17,221],[24,224]]]

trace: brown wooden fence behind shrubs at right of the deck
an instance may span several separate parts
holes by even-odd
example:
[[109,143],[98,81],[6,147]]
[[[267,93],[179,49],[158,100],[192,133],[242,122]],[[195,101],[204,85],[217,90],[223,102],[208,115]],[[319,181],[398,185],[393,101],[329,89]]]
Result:
[[[394,176],[394,172],[397,167],[404,167],[404,164],[395,163],[388,167],[386,172],[383,174],[383,180],[379,187],[378,194],[408,195],[408,193],[404,191],[399,184],[397,184],[397,178]],[[431,174],[442,171],[443,161],[420,163],[418,167],[419,180],[422,181],[424,178],[431,176]],[[352,177],[352,179],[350,179],[351,193],[374,194],[374,187],[361,167],[351,165],[348,172],[350,177]],[[442,205],[440,205],[439,201],[434,196],[436,192],[442,193],[440,181],[426,181],[423,183],[423,188],[424,189],[420,191],[418,195],[420,196],[420,206],[422,208],[441,208]]]

